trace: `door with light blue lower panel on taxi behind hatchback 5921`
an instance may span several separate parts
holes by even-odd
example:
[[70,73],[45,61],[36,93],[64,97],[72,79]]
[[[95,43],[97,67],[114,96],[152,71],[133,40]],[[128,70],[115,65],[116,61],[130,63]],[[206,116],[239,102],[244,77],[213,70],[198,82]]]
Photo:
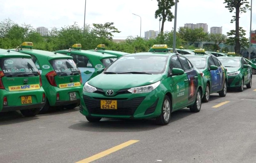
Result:
[[95,72],[95,68],[93,67],[89,58],[85,55],[74,54],[71,52],[70,56],[73,57],[76,66],[81,72],[82,83],[84,85],[84,83],[88,81],[91,78],[92,74]]

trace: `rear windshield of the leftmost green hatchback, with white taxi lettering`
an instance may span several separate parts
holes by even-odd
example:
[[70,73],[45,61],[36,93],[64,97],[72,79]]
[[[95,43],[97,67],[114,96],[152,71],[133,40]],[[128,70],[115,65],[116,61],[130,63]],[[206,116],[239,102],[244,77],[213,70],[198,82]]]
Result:
[[38,76],[38,69],[28,58],[3,58],[0,67],[6,77]]

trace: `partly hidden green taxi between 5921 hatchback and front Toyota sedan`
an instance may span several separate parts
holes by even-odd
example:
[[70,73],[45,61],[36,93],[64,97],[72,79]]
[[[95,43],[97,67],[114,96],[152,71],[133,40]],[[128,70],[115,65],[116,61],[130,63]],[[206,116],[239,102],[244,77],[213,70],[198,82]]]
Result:
[[57,50],[55,52],[73,57],[73,60],[81,71],[82,84],[98,75],[98,69],[108,67],[108,65],[117,59],[115,55],[81,50],[81,48],[81,44],[74,44],[68,50]]

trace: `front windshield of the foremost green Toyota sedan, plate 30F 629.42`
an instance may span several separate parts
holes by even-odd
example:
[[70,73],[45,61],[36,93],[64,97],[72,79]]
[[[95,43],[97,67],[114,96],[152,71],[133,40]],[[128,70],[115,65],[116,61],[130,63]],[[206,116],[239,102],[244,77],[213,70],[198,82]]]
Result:
[[105,74],[162,74],[168,56],[123,56],[112,63]]

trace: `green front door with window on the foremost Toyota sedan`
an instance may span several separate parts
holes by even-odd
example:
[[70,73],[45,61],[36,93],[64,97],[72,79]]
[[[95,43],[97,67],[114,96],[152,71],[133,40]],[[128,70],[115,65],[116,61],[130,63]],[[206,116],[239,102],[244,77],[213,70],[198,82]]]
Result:
[[[172,73],[172,68],[183,69],[178,56],[173,56],[170,60],[169,65],[170,71]],[[188,77],[184,73],[182,75],[172,76],[171,80],[172,90],[173,90],[173,110],[178,109],[188,103]]]

